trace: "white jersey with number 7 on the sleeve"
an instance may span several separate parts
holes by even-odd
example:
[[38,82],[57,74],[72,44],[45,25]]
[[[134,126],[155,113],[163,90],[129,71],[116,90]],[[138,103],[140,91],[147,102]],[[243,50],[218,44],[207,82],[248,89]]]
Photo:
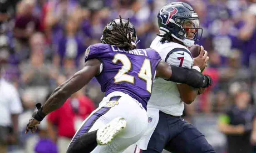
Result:
[[[164,62],[184,68],[193,66],[193,57],[188,48],[173,42],[161,43],[160,40],[161,37],[157,36],[151,43],[150,48],[155,49]],[[184,110],[184,103],[180,98],[176,84],[172,81],[156,78],[147,108],[156,108],[166,114],[181,116]]]

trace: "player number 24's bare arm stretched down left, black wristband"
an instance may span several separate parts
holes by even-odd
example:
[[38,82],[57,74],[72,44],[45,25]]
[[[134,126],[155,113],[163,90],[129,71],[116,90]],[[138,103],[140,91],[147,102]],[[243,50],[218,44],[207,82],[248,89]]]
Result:
[[83,88],[83,86],[85,86],[95,75],[99,74],[100,65],[101,62],[98,59],[87,60],[83,69],[78,71],[73,75],[73,77],[65,81],[65,83],[61,84],[53,91],[50,98],[42,108],[37,105],[38,111],[33,113],[32,118],[29,120],[26,133],[29,130],[34,132],[36,130],[36,125],[40,124],[40,121],[42,121],[47,114],[60,108],[68,97]]

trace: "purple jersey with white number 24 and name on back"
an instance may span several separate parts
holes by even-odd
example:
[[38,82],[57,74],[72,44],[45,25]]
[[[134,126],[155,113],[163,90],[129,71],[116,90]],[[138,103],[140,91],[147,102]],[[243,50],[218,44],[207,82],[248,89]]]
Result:
[[96,76],[105,96],[121,91],[139,101],[146,109],[151,96],[160,55],[154,49],[125,50],[109,44],[90,45],[86,49],[85,62],[97,58],[102,62],[102,72]]

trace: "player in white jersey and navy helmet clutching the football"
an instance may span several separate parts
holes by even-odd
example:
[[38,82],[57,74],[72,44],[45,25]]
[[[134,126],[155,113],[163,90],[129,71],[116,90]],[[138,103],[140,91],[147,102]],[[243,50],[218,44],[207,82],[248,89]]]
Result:
[[[188,49],[200,40],[202,29],[194,9],[187,3],[173,2],[161,8],[157,15],[160,34],[151,43],[164,62],[177,67],[194,68],[199,71],[206,67],[193,67],[197,59]],[[199,56],[209,59],[201,47]],[[146,134],[137,142],[135,152],[215,152],[213,147],[196,127],[181,118],[184,103],[191,104],[196,95],[204,91],[193,89],[156,78],[152,95],[147,104],[149,127]]]

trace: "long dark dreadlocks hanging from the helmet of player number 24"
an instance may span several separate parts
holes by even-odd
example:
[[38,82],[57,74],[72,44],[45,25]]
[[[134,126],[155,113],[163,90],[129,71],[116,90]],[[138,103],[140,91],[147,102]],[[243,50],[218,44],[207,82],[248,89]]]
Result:
[[[127,50],[135,49],[136,46],[131,44],[131,32],[128,28],[130,23],[130,18],[128,18],[128,22],[124,25],[122,23],[122,18],[120,18],[120,25],[117,25],[114,21],[113,29],[109,30],[106,27],[103,30],[103,38],[107,44],[116,45],[116,47],[124,48]],[[128,35],[128,38],[127,38]]]

